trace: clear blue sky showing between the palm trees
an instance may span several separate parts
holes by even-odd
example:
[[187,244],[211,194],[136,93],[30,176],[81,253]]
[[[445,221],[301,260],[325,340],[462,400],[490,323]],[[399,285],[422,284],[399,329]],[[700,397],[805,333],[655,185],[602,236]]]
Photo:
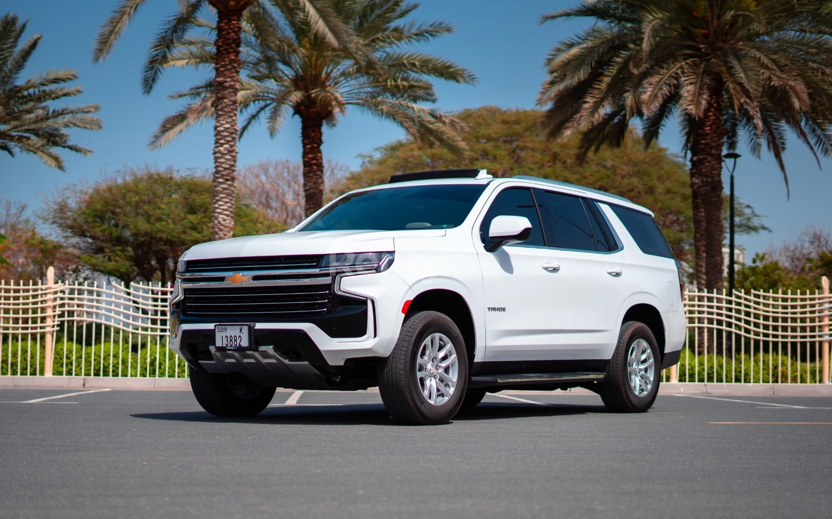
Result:
[[[27,203],[32,210],[42,206],[44,195],[67,184],[94,182],[122,166],[156,164],[177,169],[210,169],[212,165],[212,126],[201,125],[158,150],[147,147],[147,140],[166,115],[179,103],[168,100],[173,91],[185,90],[206,73],[169,71],[151,95],[142,95],[141,65],[147,47],[161,20],[169,17],[176,0],[149,0],[127,27],[115,51],[106,61],[93,65],[92,47],[98,28],[117,0],[27,0],[7,2],[13,12],[29,25],[25,37],[43,35],[25,74],[47,69],[72,68],[78,71],[84,94],[73,104],[98,103],[104,129],[77,131],[73,140],[94,150],[90,156],[64,154],[67,171],[42,165],[39,159],[19,155],[11,159],[0,154],[0,198]],[[544,78],[542,61],[558,40],[569,37],[586,21],[549,22],[538,25],[542,13],[567,7],[562,0],[423,0],[414,18],[444,20],[456,27],[452,35],[419,47],[458,62],[479,77],[476,86],[437,84],[437,106],[460,110],[481,105],[507,108],[532,108]],[[7,7],[10,8],[10,7]],[[359,154],[399,139],[403,133],[390,123],[350,111],[334,129],[324,130],[324,157],[355,168]],[[678,135],[668,128],[661,144],[673,152],[680,150]],[[756,211],[765,215],[772,233],[738,237],[737,243],[750,252],[764,251],[794,239],[809,226],[830,228],[832,160],[822,159],[818,168],[810,152],[796,140],[790,143],[786,164],[791,197],[775,161],[769,156],[754,159],[745,149],[735,174],[736,193]],[[254,128],[240,142],[239,164],[261,159],[300,159],[300,123],[287,120],[280,135],[270,139],[265,128]],[[476,164],[472,164],[476,166]],[[725,178],[727,189],[727,175]]]

